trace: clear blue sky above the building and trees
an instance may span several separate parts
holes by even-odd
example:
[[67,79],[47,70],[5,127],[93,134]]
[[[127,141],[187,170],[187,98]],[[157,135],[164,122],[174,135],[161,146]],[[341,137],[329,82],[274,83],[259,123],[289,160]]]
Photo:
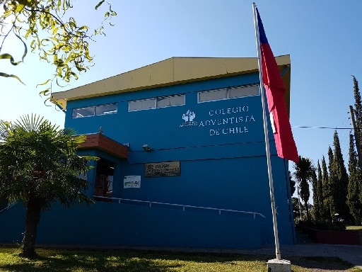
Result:
[[[100,24],[104,8],[95,11],[97,3],[73,1],[71,15],[78,25],[95,28]],[[115,26],[105,23],[106,36],[91,43],[93,67],[77,81],[63,87],[54,84],[53,91],[73,89],[170,57],[257,56],[252,1],[110,3],[117,11],[112,20]],[[354,105],[351,75],[362,82],[362,1],[259,0],[256,4],[274,55],[291,55],[290,120],[298,153],[310,158],[315,166],[322,156],[327,160],[328,147],[333,148],[333,134],[338,128],[341,151],[348,163],[349,105]],[[18,59],[21,44],[13,39],[4,44],[4,52]],[[16,74],[25,83],[0,77],[0,119],[16,120],[37,113],[64,126],[64,113],[54,105],[46,106],[45,98],[38,95],[42,88],[37,84],[52,76],[50,64],[29,53],[17,67],[1,61],[0,72]],[[293,171],[292,162],[290,169]]]

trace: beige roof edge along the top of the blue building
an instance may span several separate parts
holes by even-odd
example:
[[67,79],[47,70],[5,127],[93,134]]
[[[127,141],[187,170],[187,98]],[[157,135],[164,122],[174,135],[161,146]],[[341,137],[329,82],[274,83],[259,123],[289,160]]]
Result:
[[[278,56],[275,59],[279,69],[291,64],[289,55]],[[256,72],[257,70],[257,57],[171,57],[114,77],[67,91],[53,93],[52,101],[61,108],[66,109],[66,101],[205,79],[230,77]],[[288,73],[288,80],[284,80],[284,84],[288,94],[290,89],[290,69],[286,73]],[[289,96],[286,96],[286,98],[289,98]]]

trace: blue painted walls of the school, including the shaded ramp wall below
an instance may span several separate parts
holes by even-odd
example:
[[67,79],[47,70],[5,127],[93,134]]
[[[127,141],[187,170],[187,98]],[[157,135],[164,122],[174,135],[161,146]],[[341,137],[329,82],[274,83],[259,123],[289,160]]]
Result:
[[[65,126],[80,134],[95,133],[102,127],[107,137],[129,143],[128,159],[90,152],[115,162],[114,198],[259,212],[265,218],[97,202],[91,208],[47,212],[41,222],[40,242],[216,248],[273,244],[260,96],[197,102],[198,91],[258,81],[258,74],[247,74],[68,101]],[[185,105],[128,111],[129,101],[173,94],[185,94]],[[73,108],[115,102],[116,114],[71,118]],[[182,126],[182,115],[187,111],[195,113],[197,125]],[[276,157],[271,133],[269,138],[279,239],[281,244],[291,244],[294,230],[288,165]],[[153,151],[145,152],[144,144]],[[169,161],[180,161],[180,176],[144,176],[145,163]],[[123,188],[124,176],[141,176],[141,188]],[[95,169],[88,173],[88,181],[95,181]],[[93,195],[92,186],[88,193]],[[54,231],[67,233],[67,238],[59,241],[47,231],[57,220],[62,228]],[[100,229],[105,229],[106,235],[99,237]]]

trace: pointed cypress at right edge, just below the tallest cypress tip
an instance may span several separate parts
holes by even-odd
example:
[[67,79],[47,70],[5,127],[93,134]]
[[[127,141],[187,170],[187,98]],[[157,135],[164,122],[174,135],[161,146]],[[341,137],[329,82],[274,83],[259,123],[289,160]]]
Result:
[[361,225],[362,220],[362,203],[359,198],[361,195],[361,169],[358,167],[357,154],[354,149],[354,136],[349,134],[349,183],[347,204],[351,215],[354,217],[354,224]]

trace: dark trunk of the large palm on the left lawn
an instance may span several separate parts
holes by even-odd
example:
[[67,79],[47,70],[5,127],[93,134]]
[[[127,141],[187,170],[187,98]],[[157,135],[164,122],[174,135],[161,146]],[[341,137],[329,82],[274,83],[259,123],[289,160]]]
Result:
[[40,222],[40,212],[42,207],[40,201],[33,198],[28,201],[25,217],[25,232],[23,236],[23,244],[21,246],[21,256],[33,258],[35,253],[35,242],[37,238],[37,225]]

